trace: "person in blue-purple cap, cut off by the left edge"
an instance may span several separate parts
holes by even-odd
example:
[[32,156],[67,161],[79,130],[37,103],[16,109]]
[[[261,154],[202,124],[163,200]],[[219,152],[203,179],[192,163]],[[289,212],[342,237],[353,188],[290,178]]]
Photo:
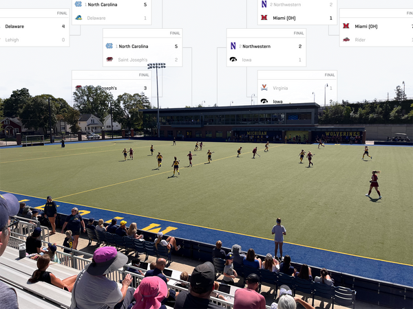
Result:
[[[0,194],[0,256],[6,250],[10,238],[10,216],[19,212],[19,200],[13,194]],[[17,223],[19,221],[16,221]],[[14,288],[0,281],[0,304],[4,308],[19,309]]]

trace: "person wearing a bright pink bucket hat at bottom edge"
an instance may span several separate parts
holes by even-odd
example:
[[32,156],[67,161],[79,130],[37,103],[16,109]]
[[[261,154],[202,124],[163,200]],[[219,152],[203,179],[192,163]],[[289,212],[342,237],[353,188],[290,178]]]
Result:
[[145,277],[134,293],[132,309],[167,309],[162,301],[169,295],[167,284],[160,277]]

